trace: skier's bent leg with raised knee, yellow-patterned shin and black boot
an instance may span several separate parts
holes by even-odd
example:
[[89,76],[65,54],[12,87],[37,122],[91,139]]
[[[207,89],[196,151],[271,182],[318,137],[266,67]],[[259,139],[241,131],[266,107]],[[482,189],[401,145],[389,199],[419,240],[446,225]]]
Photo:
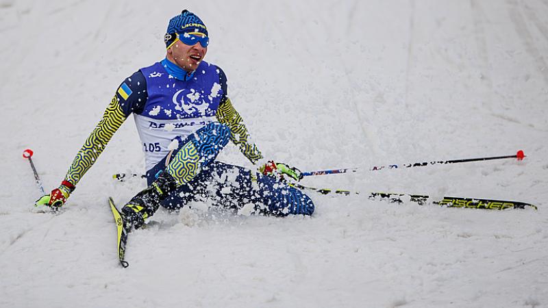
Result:
[[210,123],[179,142],[179,149],[165,158],[169,159],[165,170],[122,208],[126,229],[140,227],[169,194],[197,177],[201,168],[214,161],[228,143],[229,136],[227,126]]

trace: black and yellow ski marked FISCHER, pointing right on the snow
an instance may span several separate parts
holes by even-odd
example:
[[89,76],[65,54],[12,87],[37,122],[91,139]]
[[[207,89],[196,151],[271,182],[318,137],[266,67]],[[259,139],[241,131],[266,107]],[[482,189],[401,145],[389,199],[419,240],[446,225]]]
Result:
[[[349,190],[330,190],[330,189],[320,189],[304,186],[297,183],[289,183],[290,186],[299,188],[301,190],[312,190],[314,192],[319,192],[320,194],[360,194],[359,192],[350,192]],[[394,194],[387,192],[370,192],[369,198],[372,200],[382,200],[388,201],[390,203],[403,203],[406,200],[412,201],[419,205],[425,205],[428,202],[433,204],[440,205],[443,207],[464,207],[468,209],[525,209],[525,207],[532,207],[537,209],[536,205],[530,203],[524,203],[519,201],[506,201],[506,200],[495,200],[495,199],[485,199],[485,198],[463,198],[463,197],[453,197],[453,196],[444,196],[440,200],[429,200],[430,196],[421,195],[421,194]]]

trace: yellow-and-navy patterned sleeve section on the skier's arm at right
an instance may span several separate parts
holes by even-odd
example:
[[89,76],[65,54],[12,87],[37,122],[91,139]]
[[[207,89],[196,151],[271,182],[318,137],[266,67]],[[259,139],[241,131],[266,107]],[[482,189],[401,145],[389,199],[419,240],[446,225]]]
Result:
[[256,164],[262,158],[262,154],[257,149],[256,144],[249,144],[247,140],[249,138],[247,127],[245,127],[240,114],[234,109],[230,99],[227,98],[226,101],[219,105],[215,116],[219,122],[230,128],[230,140],[240,148],[240,151],[242,151],[247,159]]

